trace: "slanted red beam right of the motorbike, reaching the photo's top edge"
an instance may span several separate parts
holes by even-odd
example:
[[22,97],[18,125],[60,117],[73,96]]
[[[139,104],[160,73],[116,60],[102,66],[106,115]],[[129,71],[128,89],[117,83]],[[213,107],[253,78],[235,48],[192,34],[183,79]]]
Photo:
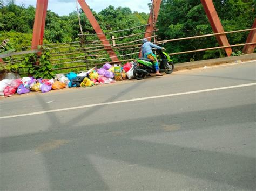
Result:
[[[212,0],[200,0],[200,1],[204,7],[205,13],[212,26],[213,32],[214,33],[224,32],[223,26],[220,23],[219,16],[215,10]],[[230,43],[228,43],[226,34],[220,34],[219,36],[216,36],[216,38],[220,46],[230,46]],[[225,48],[225,51],[227,53],[227,56],[230,56],[232,54],[232,49],[230,47]]]

